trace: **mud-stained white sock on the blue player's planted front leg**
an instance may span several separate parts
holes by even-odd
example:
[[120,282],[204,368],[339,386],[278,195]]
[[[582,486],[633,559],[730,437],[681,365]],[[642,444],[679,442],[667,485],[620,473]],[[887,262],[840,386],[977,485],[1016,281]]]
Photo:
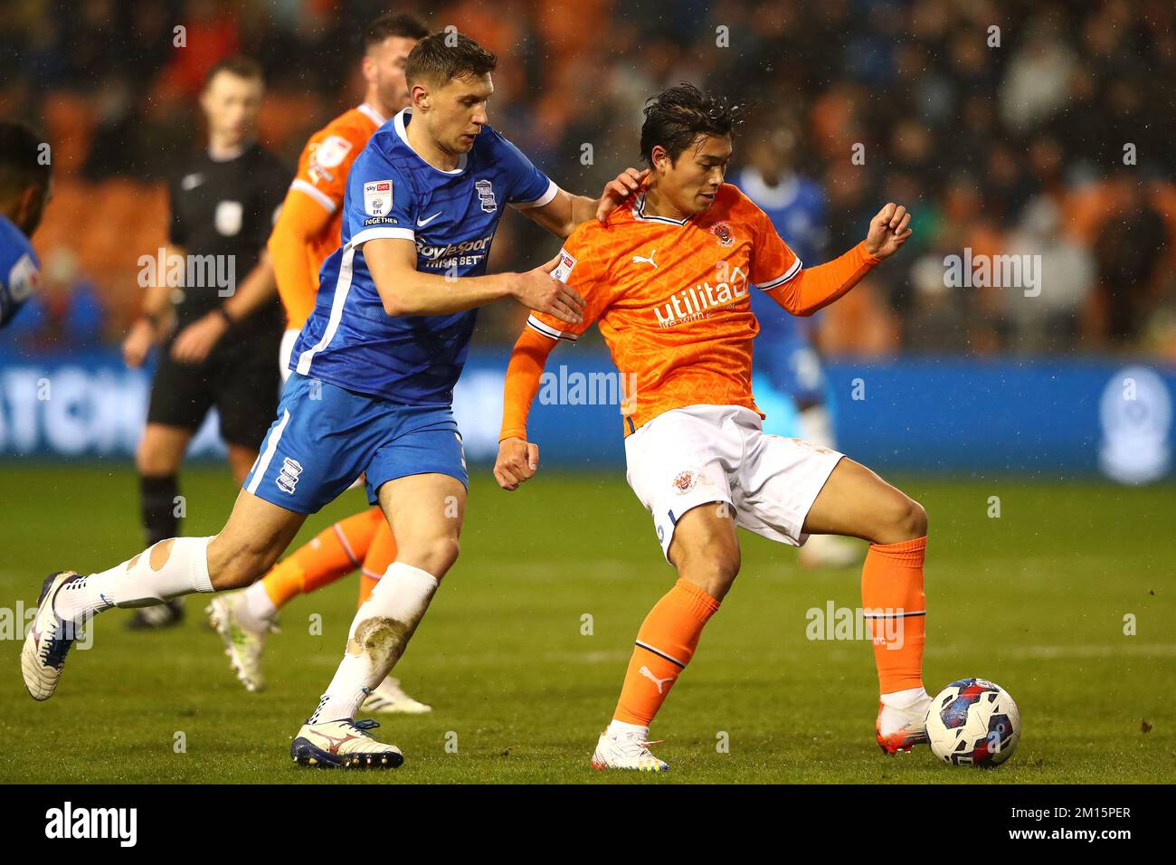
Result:
[[[376,685],[400,660],[437,590],[428,571],[394,561],[360,606],[347,634],[348,651],[308,724],[354,718]],[[361,646],[353,654],[352,641]]]

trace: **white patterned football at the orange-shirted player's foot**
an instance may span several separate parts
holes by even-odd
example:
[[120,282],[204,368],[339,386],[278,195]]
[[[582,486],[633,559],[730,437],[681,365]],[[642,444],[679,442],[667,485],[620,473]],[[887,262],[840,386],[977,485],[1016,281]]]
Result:
[[1000,685],[987,679],[961,679],[931,700],[927,739],[931,752],[944,763],[991,768],[1016,750],[1021,714]]

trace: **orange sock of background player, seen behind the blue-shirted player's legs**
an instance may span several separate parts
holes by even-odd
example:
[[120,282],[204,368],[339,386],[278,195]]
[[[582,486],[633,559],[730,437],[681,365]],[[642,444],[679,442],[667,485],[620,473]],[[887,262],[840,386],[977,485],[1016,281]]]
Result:
[[322,588],[358,568],[383,521],[380,508],[373,507],[319,532],[262,578],[269,600],[281,607],[290,598]]

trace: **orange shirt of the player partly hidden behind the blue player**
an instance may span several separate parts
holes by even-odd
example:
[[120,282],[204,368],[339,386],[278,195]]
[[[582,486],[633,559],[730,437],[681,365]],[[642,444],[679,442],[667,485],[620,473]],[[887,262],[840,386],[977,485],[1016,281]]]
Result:
[[[314,288],[309,298],[292,297],[292,287],[279,282],[279,294],[286,306],[288,327],[300,328],[314,310],[314,293],[319,290],[319,270],[339,248],[343,227],[343,195],[347,192],[347,174],[352,164],[368,139],[385,124],[367,105],[352,108],[319,129],[306,142],[298,160],[298,174],[290,184],[294,191],[309,195],[332,214],[326,229],[303,247],[309,272],[314,274]],[[287,193],[289,194],[289,193]],[[305,291],[295,287],[295,291]]]

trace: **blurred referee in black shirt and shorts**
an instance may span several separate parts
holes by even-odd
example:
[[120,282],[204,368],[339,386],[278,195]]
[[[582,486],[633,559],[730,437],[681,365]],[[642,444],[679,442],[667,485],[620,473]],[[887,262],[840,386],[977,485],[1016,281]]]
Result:
[[[132,367],[161,347],[135,457],[148,545],[180,533],[180,464],[208,411],[216,407],[239,484],[278,412],[286,319],[266,241],[292,174],[255,140],[263,93],[253,60],[209,71],[200,95],[208,147],[168,182],[168,246],[145,268],[151,278],[141,274],[143,311],[122,344]],[[182,613],[176,599],[135,611],[129,626],[163,627]]]

